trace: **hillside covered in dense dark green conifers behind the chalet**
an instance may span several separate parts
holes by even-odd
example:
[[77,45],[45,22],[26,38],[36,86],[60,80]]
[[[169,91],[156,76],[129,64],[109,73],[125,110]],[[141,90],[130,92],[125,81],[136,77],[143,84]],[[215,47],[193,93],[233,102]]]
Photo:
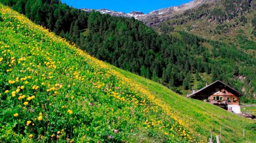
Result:
[[97,59],[157,81],[179,94],[222,80],[245,93],[244,101],[255,101],[256,60],[234,45],[180,31],[159,35],[134,18],[87,13],[59,1],[35,2],[2,1]]

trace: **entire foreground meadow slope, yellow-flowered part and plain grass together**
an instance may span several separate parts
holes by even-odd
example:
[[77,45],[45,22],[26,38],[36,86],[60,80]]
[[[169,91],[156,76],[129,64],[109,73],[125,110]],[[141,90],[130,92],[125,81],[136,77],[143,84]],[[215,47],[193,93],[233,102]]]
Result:
[[2,4],[0,33],[3,142],[206,142],[219,127],[225,142],[255,140],[255,121],[98,61]]

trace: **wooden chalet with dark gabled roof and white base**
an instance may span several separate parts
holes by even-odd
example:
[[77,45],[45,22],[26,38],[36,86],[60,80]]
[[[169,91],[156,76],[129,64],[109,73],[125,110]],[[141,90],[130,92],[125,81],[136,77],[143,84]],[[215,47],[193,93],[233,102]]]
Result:
[[202,100],[213,105],[217,105],[234,113],[241,113],[239,97],[243,96],[237,90],[227,84],[217,80],[198,91],[193,91],[187,97]]

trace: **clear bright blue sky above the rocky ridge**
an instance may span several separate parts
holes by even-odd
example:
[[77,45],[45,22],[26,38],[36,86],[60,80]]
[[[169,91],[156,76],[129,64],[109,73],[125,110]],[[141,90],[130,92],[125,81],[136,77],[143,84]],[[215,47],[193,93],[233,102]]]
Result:
[[129,13],[131,11],[141,11],[149,13],[153,10],[180,6],[192,0],[61,0],[74,8],[109,9]]

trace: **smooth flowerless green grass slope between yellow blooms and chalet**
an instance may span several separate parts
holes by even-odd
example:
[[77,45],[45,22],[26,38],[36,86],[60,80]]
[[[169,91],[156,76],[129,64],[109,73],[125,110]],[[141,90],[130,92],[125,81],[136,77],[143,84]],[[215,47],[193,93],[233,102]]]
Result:
[[[203,136],[209,136],[209,130],[218,134],[222,127],[222,140],[224,142],[253,142],[255,141],[256,122],[233,115],[217,106],[212,106],[198,100],[184,98],[170,91],[163,85],[137,76],[135,74],[115,68],[128,78],[142,84],[151,91],[163,104],[187,121],[190,128]],[[247,137],[242,137],[242,129],[246,129]],[[234,131],[234,136],[233,136]],[[254,136],[254,137],[253,137]],[[250,139],[249,139],[250,138]]]

